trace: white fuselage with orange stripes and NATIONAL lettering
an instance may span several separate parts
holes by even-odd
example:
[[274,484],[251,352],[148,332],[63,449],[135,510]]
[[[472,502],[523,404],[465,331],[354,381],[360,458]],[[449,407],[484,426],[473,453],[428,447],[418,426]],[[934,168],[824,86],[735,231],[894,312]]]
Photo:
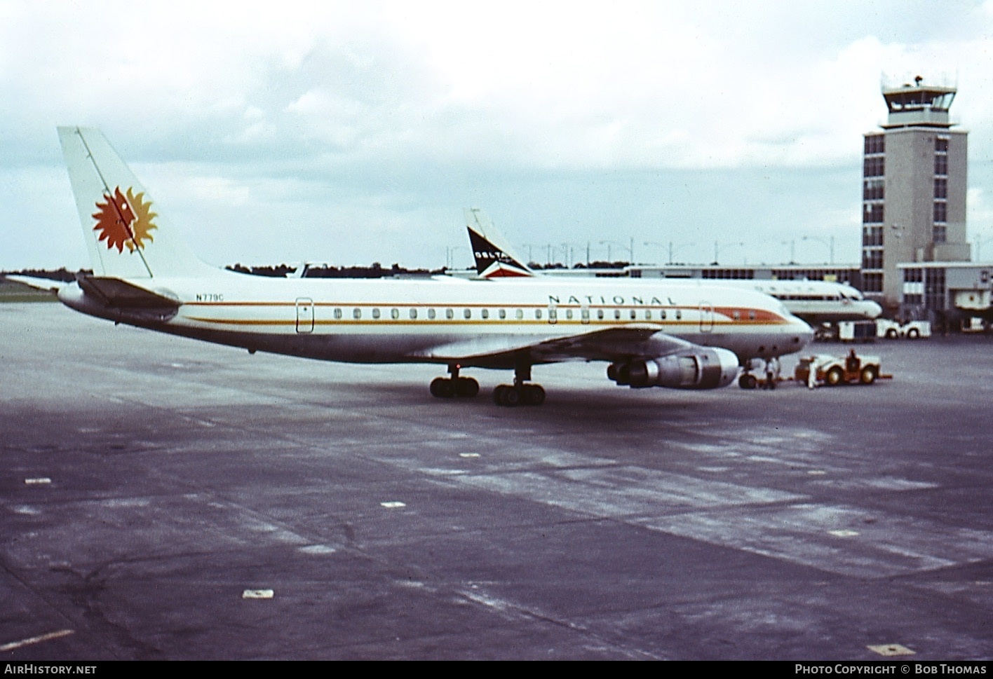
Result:
[[696,282],[577,278],[520,285],[273,279],[224,271],[214,277],[129,282],[178,300],[178,309],[154,319],[108,308],[95,304],[77,284],[63,289],[60,299],[83,313],[125,324],[250,350],[348,362],[507,367],[505,360],[486,356],[634,326],[727,348],[744,362],[797,351],[812,337],[810,328],[775,299]]

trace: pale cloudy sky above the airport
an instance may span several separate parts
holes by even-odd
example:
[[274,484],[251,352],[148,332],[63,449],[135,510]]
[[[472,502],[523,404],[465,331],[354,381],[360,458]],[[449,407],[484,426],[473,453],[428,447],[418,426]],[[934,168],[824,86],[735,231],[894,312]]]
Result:
[[993,1],[0,0],[0,269],[87,265],[66,124],[218,265],[468,266],[467,205],[541,262],[855,262],[862,134],[919,73],[993,238]]

